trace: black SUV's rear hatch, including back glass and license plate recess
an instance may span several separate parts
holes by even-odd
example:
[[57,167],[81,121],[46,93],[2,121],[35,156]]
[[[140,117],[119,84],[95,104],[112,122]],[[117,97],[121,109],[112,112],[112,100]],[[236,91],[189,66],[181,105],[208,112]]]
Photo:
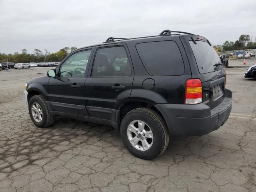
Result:
[[[202,36],[191,36],[189,46],[192,50],[190,62],[193,65],[192,78],[202,82],[202,102],[215,108],[224,99],[226,73],[222,62],[210,42]],[[195,67],[196,66],[196,67]],[[197,69],[197,70],[196,70]]]

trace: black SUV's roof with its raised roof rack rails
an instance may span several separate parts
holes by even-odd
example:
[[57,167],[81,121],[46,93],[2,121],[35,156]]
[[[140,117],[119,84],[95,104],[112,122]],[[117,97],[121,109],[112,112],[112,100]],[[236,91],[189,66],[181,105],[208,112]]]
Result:
[[[174,34],[172,34],[174,33]],[[159,35],[155,36],[144,36],[144,37],[136,37],[136,38],[114,38],[114,37],[109,37],[105,42],[99,43],[99,44],[94,44],[90,46],[85,46],[82,48],[78,48],[77,50],[88,48],[88,47],[94,47],[94,46],[100,46],[102,44],[112,44],[113,42],[126,42],[126,41],[138,41],[141,39],[151,39],[151,38],[162,38],[163,36],[177,36],[180,34],[185,34],[185,35],[194,35],[192,33],[188,32],[182,32],[182,31],[170,31],[170,30],[163,30]]]

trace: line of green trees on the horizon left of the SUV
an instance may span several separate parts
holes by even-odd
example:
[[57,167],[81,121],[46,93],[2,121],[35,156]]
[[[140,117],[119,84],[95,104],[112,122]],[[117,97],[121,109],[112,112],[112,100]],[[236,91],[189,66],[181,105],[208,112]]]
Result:
[[33,54],[28,54],[26,49],[22,49],[21,53],[14,52],[14,54],[4,54],[0,52],[0,62],[6,62],[7,58],[8,62],[10,61],[14,63],[58,62],[62,61],[64,57],[76,49],[75,46],[70,48],[64,47],[56,53],[50,53],[46,49],[44,49],[44,52],[40,49],[34,49]]

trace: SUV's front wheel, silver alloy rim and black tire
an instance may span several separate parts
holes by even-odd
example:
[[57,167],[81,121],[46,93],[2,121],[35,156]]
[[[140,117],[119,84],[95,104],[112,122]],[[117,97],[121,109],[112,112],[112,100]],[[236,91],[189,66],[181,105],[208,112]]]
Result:
[[45,128],[54,124],[54,116],[49,113],[42,95],[35,95],[29,100],[28,112],[31,120],[38,127]]

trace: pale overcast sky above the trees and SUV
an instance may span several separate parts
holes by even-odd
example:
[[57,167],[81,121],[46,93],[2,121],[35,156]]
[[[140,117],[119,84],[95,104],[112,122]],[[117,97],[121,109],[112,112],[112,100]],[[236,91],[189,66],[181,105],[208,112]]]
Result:
[[213,45],[256,37],[256,1],[241,0],[0,0],[0,52],[35,48],[56,52],[180,30]]

